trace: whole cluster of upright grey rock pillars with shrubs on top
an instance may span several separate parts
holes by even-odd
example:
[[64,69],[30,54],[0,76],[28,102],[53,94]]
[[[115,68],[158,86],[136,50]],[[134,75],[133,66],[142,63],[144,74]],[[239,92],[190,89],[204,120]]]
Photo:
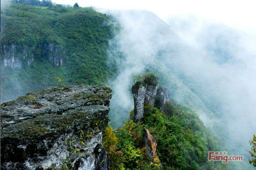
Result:
[[132,86],[134,100],[134,122],[137,123],[143,118],[144,104],[154,105],[161,111],[164,110],[164,103],[169,99],[167,88],[158,88],[159,78],[155,75],[147,75]]

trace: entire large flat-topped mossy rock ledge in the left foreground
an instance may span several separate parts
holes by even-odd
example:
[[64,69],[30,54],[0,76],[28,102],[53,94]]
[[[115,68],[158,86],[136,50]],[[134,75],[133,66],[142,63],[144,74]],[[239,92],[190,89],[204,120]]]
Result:
[[102,145],[111,89],[67,86],[1,104],[1,169],[109,169]]

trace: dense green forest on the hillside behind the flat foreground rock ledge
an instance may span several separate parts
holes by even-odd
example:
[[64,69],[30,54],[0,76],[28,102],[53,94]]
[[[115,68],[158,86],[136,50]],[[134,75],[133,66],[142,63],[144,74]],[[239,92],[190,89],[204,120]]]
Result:
[[[1,7],[1,102],[15,99],[27,91],[63,84],[106,84],[115,73],[107,63],[108,40],[114,27],[110,18],[92,8],[61,5],[42,8],[23,3]],[[52,44],[56,58],[64,65],[49,61]],[[22,69],[3,67],[5,52],[15,45],[15,56]],[[5,47],[5,48],[4,48]],[[22,52],[28,50],[28,57]],[[34,61],[28,65],[29,57]]]

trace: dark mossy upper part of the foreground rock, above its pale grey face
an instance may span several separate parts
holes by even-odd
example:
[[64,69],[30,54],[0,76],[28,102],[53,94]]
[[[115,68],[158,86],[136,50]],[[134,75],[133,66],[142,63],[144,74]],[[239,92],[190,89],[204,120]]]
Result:
[[63,135],[79,139],[81,130],[85,135],[101,133],[109,122],[111,91],[107,86],[88,85],[45,88],[3,103],[1,169],[47,159],[49,150]]

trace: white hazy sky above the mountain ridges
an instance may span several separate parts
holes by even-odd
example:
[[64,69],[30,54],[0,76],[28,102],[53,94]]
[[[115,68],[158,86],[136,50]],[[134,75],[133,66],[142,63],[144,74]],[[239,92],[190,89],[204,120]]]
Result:
[[74,5],[77,2],[81,7],[144,9],[154,12],[165,21],[170,16],[195,14],[212,22],[248,31],[256,29],[256,1],[253,0],[53,0],[53,2],[66,5]]

